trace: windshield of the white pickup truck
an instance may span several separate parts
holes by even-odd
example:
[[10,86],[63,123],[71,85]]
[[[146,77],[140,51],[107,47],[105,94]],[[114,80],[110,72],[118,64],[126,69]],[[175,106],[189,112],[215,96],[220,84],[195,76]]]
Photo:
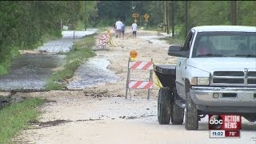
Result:
[[192,58],[253,57],[256,58],[255,32],[202,32],[194,42]]

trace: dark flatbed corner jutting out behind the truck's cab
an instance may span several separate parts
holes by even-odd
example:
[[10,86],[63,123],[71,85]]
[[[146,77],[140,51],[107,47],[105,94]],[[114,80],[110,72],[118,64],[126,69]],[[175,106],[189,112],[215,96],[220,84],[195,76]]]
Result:
[[154,72],[164,87],[175,87],[175,65],[154,65]]

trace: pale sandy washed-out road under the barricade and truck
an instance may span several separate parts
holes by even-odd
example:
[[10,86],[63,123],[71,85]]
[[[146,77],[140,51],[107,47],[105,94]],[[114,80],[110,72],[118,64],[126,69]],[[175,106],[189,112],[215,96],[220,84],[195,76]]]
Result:
[[[138,31],[132,38],[114,38],[114,47],[97,51],[95,58],[105,58],[107,66],[118,80],[99,82],[76,91],[50,91],[17,94],[23,97],[46,98],[40,107],[39,122],[13,139],[17,143],[256,143],[256,124],[242,119],[241,138],[209,138],[207,118],[199,122],[196,131],[185,130],[183,125],[159,125],[157,116],[158,87],[154,86],[150,101],[147,90],[131,90],[131,100],[125,99],[127,62],[130,50],[138,51],[138,60],[155,64],[174,64],[176,58],[167,55],[169,45],[149,39],[154,31]],[[146,36],[146,37],[145,37]],[[132,78],[148,78],[148,71],[134,70]],[[79,76],[78,76],[79,77]],[[79,78],[77,78],[79,79]]]

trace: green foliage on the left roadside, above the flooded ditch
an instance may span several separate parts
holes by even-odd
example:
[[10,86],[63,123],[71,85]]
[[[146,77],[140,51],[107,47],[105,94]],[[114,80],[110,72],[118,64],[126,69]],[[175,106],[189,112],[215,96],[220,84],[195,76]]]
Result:
[[[86,4],[86,5],[85,5]],[[95,15],[96,2],[0,1],[0,74],[18,50],[34,49],[45,34],[61,36],[62,25],[75,27],[86,15]]]

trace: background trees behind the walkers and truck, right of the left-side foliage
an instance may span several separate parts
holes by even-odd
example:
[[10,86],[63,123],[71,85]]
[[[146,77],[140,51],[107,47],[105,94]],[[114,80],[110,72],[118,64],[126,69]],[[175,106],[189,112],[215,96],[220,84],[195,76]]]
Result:
[[[186,1],[166,1],[166,12],[171,26],[172,5],[174,7],[174,25],[184,33]],[[187,1],[188,29],[202,25],[230,25],[230,1]],[[98,24],[113,25],[117,18],[122,18],[131,24],[133,13],[142,15],[138,18],[138,25],[143,26],[144,14],[150,14],[149,26],[155,28],[165,22],[164,1],[99,1]],[[134,8],[134,9],[133,9]],[[256,25],[256,2],[238,1],[237,25]]]

